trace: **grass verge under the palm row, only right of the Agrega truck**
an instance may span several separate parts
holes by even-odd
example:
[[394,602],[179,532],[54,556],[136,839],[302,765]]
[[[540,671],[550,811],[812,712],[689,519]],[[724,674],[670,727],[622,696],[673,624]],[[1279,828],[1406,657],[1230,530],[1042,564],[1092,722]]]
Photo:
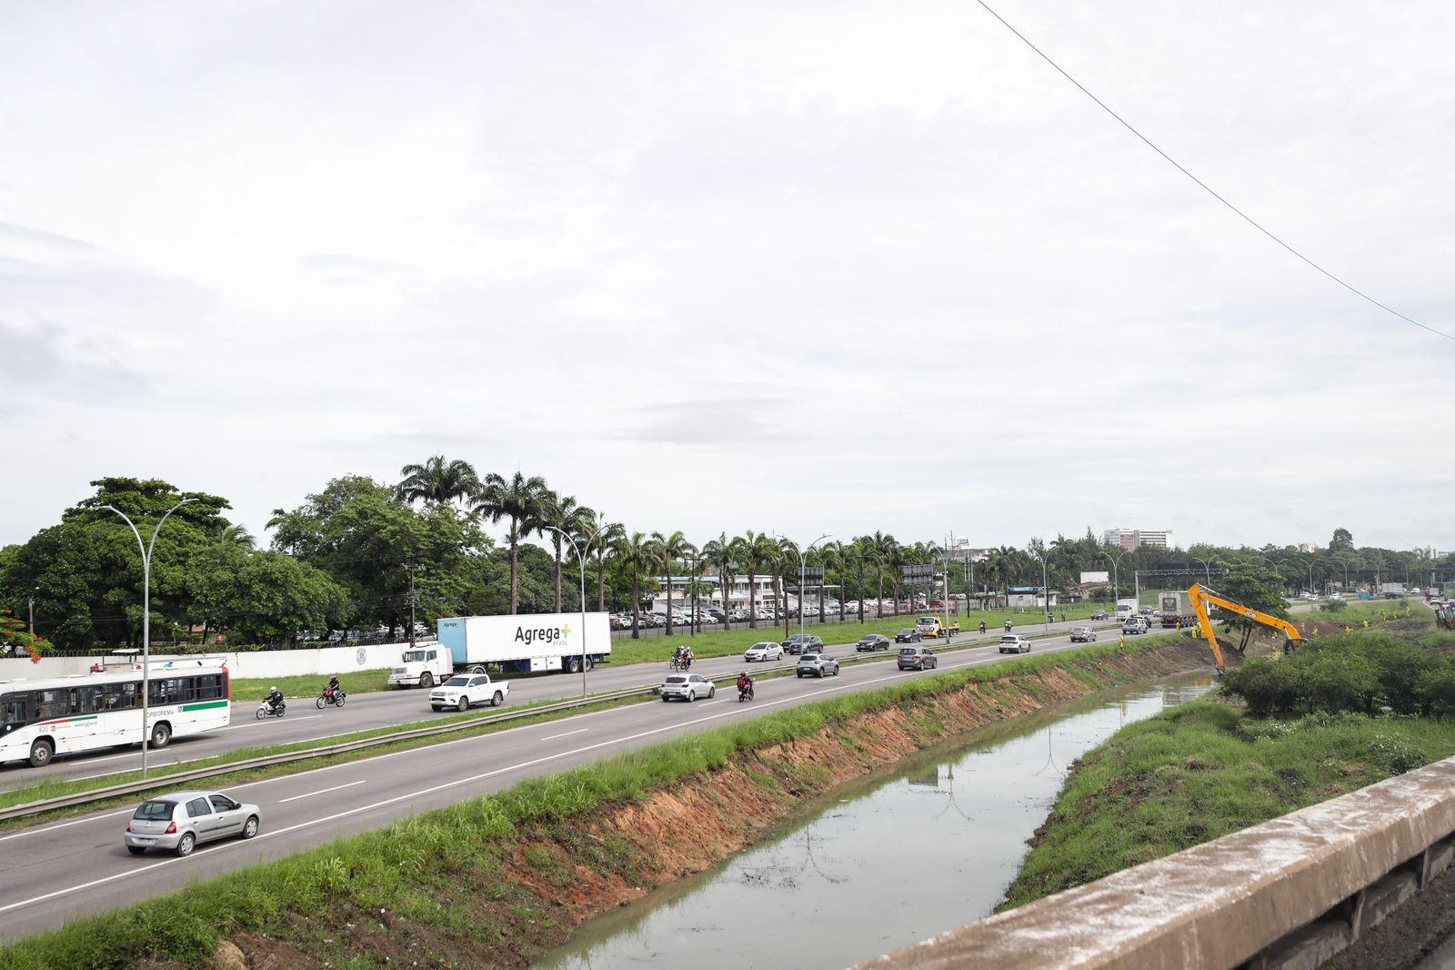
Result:
[[[1065,607],[1067,620],[1090,619],[1097,610],[1110,610],[1104,603],[1074,603]],[[1056,607],[1056,620],[1061,619],[1062,607]],[[864,619],[858,622],[857,615],[850,615],[848,622],[841,623],[829,618],[826,623],[805,623],[803,632],[822,636],[825,644],[847,644],[867,634],[883,634],[893,636],[906,626],[914,626],[920,616],[936,615],[944,620],[944,613],[924,610],[920,613],[901,613],[899,616],[885,616],[880,619]],[[1042,629],[1037,622],[1039,610],[985,610],[976,613],[950,615],[952,620],[960,622],[963,632],[979,632],[979,622],[985,620],[986,632],[994,632],[1004,626],[1008,619],[1020,632],[1035,634]],[[790,622],[790,631],[799,632],[797,620]],[[761,623],[758,629],[710,629],[707,632],[688,635],[684,629],[672,629],[672,636],[643,636],[642,639],[620,638],[611,641],[613,664],[666,663],[672,658],[672,651],[678,644],[687,644],[698,660],[709,657],[730,657],[741,654],[761,641],[781,642],[784,639],[783,623]],[[950,641],[954,642],[954,641]]]

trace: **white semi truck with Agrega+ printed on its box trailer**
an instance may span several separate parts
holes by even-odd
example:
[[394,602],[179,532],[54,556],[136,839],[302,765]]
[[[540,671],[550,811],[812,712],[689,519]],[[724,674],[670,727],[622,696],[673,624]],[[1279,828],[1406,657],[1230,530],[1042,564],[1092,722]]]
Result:
[[454,673],[581,673],[611,661],[611,620],[605,613],[524,613],[441,619],[438,644],[404,648],[388,685],[432,687]]

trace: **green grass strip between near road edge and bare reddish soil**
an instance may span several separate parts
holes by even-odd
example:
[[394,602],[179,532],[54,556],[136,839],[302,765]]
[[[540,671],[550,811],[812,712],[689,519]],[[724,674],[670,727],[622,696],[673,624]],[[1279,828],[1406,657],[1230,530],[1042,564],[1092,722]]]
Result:
[[[205,966],[218,941],[236,932],[291,937],[317,947],[322,941],[300,928],[298,915],[304,913],[327,915],[335,922],[368,915],[359,920],[359,932],[372,932],[374,926],[383,929],[380,916],[391,913],[391,919],[451,928],[490,942],[499,937],[499,928],[485,920],[457,920],[451,906],[441,900],[477,893],[506,904],[527,904],[528,900],[512,896],[514,887],[498,877],[501,853],[509,851],[522,827],[560,826],[602,804],[639,800],[687,776],[722,768],[742,752],[808,737],[890,705],[914,705],[968,683],[1011,677],[1020,683],[1027,674],[1051,667],[1080,667],[1088,679],[1109,686],[1116,677],[1099,673],[1100,658],[1148,652],[1155,647],[1129,644],[1122,650],[1109,644],[952,670],[629,752],[198,883],[182,893],[73,920],[55,932],[0,948],[0,966],[12,970],[125,967],[147,960]],[[554,861],[535,855],[531,864],[550,871]],[[521,918],[534,918],[530,913],[527,909]],[[330,944],[329,955],[342,960],[345,954],[338,944]]]

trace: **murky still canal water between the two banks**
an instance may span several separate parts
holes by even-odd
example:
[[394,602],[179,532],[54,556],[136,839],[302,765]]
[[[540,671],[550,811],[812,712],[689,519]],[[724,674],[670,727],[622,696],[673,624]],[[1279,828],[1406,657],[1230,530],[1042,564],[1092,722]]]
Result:
[[540,966],[842,967],[986,916],[1069,765],[1209,689],[1206,676],[1168,679],[927,752],[780,839],[588,923]]

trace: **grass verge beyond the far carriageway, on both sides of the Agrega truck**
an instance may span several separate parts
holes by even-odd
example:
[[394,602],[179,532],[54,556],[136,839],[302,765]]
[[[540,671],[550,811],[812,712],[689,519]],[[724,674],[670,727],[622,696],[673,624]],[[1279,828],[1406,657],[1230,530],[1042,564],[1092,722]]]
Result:
[[[1075,603],[1065,607],[1065,615],[1068,620],[1088,619],[1091,613],[1100,609],[1107,609],[1104,603]],[[1061,619],[1062,610],[1056,609],[1056,619]],[[928,616],[930,613],[924,613]],[[866,634],[885,634],[893,638],[896,632],[905,626],[914,626],[915,619],[920,613],[902,613],[899,616],[885,616],[882,619],[866,619],[863,625],[854,618],[850,618],[847,623],[840,623],[834,618],[829,618],[826,623],[806,623],[803,626],[805,634],[813,634],[822,636],[825,644],[842,644],[851,642],[864,636]],[[943,618],[943,613],[940,613]],[[1014,628],[1020,632],[1029,632],[1035,635],[1042,629],[1040,623],[1036,623],[1037,612],[1017,612],[1017,610],[988,610],[982,613],[970,613],[969,616],[960,615],[952,619],[960,620],[960,626],[970,632],[970,628],[979,629],[979,622],[985,620],[988,632],[994,632],[1004,626],[1008,619]],[[793,623],[793,632],[799,632],[797,622]],[[697,635],[688,635],[685,631],[674,629],[672,638],[665,636],[643,636],[642,639],[630,638],[615,638],[611,641],[611,664],[614,667],[623,667],[626,664],[647,664],[661,663],[665,664],[672,658],[672,651],[677,650],[678,644],[688,644],[693,648],[693,654],[698,660],[707,660],[710,657],[732,657],[741,654],[749,647],[761,641],[780,642],[783,639],[783,626],[773,623],[762,623],[760,629],[707,629]],[[954,642],[954,641],[950,641]],[[403,650],[403,645],[400,645]],[[374,690],[388,689],[388,671],[386,670],[361,670],[351,671],[339,676],[339,682],[343,689],[349,693],[370,693]],[[240,677],[233,680],[233,699],[234,701],[262,701],[268,696],[268,689],[278,685],[278,689],[284,692],[285,696],[313,696],[323,689],[323,685],[329,682],[327,674],[308,674],[303,677]]]

